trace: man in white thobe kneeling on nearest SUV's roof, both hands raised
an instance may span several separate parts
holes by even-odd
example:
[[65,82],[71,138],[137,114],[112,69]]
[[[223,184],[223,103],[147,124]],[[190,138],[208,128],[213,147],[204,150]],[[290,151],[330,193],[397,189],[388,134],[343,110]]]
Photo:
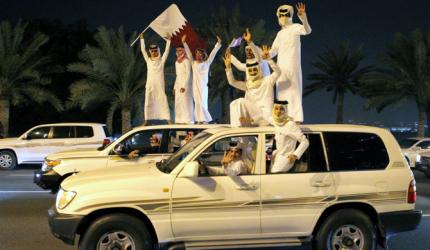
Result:
[[[269,48],[263,46],[263,58],[268,59]],[[260,64],[257,60],[247,63],[246,81],[238,81],[234,78],[231,70],[230,51],[227,50],[224,59],[228,83],[240,90],[245,91],[244,98],[238,98],[230,103],[230,124],[232,127],[243,125],[268,124],[267,117],[273,106],[273,86],[280,75],[280,69],[271,59],[268,60],[273,73],[263,77]]]

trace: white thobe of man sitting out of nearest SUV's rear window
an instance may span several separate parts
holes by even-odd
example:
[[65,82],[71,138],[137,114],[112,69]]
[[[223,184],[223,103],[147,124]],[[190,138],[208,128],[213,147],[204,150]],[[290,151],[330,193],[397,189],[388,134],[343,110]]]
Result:
[[[288,162],[288,156],[294,154],[297,159],[302,157],[303,153],[309,146],[309,141],[302,133],[300,127],[294,121],[288,121],[283,126],[275,126],[276,150],[272,154],[272,164],[270,166],[271,173],[285,173],[294,166],[294,162]],[[296,144],[299,146],[296,148]]]

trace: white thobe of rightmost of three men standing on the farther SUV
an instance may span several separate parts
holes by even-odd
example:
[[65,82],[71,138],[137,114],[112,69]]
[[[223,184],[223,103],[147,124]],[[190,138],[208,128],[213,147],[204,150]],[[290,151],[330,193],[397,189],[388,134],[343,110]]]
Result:
[[[188,58],[193,58],[190,48],[184,43],[185,52]],[[212,116],[208,110],[208,78],[209,68],[215,58],[216,53],[221,48],[221,44],[216,43],[206,61],[193,61],[193,99],[194,99],[194,119],[196,122],[210,122]]]

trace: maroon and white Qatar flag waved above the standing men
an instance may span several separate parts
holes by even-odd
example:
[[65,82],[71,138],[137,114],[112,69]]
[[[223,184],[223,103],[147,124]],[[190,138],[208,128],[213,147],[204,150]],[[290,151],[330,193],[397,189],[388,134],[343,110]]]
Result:
[[186,42],[193,53],[197,48],[206,49],[205,41],[197,35],[176,4],[170,5],[151,22],[149,27],[161,37],[166,37],[168,34],[174,47],[182,46],[182,36],[186,35]]

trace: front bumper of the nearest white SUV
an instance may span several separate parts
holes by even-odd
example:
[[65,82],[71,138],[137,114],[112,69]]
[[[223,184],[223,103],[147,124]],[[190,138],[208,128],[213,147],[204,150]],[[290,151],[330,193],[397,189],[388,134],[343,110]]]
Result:
[[83,216],[59,214],[55,206],[48,210],[48,222],[52,234],[64,243],[73,245]]

